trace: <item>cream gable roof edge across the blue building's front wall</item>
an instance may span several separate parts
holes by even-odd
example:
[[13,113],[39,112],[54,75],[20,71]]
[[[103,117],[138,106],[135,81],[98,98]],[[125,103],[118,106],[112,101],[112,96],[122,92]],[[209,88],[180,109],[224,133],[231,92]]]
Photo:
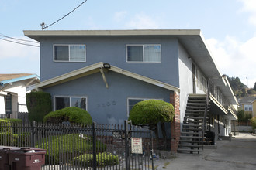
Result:
[[[52,79],[45,80],[43,82],[33,84],[32,86],[27,87],[27,90],[39,90],[39,89],[43,89],[43,88],[47,88],[47,87],[53,87],[53,86],[55,86],[57,84],[60,84],[60,83],[65,83],[67,81],[75,80],[75,79],[81,78],[83,76],[91,75],[92,73],[98,73],[98,72],[100,72],[100,69],[102,69],[102,68],[103,68],[103,63],[102,62],[95,63],[95,64],[92,64],[91,66],[86,66],[84,68],[71,71],[70,73],[65,73],[61,76],[56,76]],[[168,83],[163,83],[163,82],[158,81],[158,80],[150,79],[146,76],[141,76],[139,74],[132,73],[130,71],[120,69],[116,66],[111,66],[111,68],[108,69],[108,70],[116,72],[116,73],[123,74],[124,76],[130,76],[133,79],[141,80],[141,81],[144,81],[146,83],[153,84],[157,87],[162,87],[164,89],[172,90],[172,91],[175,91],[175,92],[179,91],[178,87],[171,86]]]

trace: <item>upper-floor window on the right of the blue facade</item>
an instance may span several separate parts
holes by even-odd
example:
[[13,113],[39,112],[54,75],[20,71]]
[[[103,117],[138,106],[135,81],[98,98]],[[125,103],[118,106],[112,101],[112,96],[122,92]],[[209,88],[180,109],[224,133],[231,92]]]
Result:
[[126,61],[161,63],[161,45],[126,45]]

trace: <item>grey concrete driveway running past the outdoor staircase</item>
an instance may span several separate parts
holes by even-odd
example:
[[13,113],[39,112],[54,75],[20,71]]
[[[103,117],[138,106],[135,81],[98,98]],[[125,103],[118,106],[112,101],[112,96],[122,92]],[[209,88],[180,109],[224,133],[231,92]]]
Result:
[[216,147],[205,148],[202,154],[177,154],[171,159],[154,161],[154,167],[173,170],[256,170],[256,136],[240,133],[231,141],[216,141]]

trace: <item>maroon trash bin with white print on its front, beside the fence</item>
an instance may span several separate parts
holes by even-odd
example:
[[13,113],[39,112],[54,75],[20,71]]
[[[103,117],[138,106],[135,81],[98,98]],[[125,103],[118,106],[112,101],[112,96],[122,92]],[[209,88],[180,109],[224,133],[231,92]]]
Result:
[[20,148],[9,151],[11,170],[40,170],[45,163],[46,150],[40,148]]

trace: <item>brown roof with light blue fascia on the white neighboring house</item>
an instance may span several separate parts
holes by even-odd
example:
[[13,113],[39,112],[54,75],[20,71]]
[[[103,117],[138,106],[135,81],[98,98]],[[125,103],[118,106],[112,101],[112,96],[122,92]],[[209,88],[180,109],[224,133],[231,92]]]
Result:
[[39,76],[30,73],[13,73],[13,74],[0,74],[0,86],[4,86],[7,83],[14,83],[17,81],[28,80],[36,78],[39,80]]

